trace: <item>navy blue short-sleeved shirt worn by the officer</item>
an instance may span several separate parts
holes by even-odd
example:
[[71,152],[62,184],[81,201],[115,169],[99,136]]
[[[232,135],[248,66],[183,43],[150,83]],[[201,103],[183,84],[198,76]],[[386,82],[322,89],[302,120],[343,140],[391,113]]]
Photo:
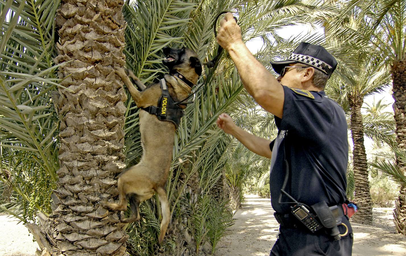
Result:
[[289,179],[285,191],[309,206],[326,201],[329,206],[346,199],[348,163],[347,121],[343,109],[324,91],[283,86],[283,116],[275,116],[278,137],[272,150],[270,194],[273,209],[287,213],[294,204],[287,196],[278,200],[285,180],[285,154]]

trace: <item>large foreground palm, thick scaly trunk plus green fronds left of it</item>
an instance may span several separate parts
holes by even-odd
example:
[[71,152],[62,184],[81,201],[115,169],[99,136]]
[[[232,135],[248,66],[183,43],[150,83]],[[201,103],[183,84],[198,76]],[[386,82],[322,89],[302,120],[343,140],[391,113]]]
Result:
[[[97,204],[100,196],[116,196],[115,176],[125,167],[121,151],[126,95],[112,69],[125,62],[123,2],[62,2],[58,9],[59,4],[2,4],[0,123],[2,144],[14,149],[2,160],[10,163],[10,174],[17,171],[17,176],[4,176],[3,181],[13,182],[17,195],[29,202],[28,213],[31,206],[37,209],[39,225],[26,225],[44,254],[123,255],[124,225],[116,213]],[[97,4],[104,7],[96,8]],[[56,33],[60,42],[55,41]],[[51,100],[55,85],[60,95]],[[30,161],[34,170],[21,166]],[[32,173],[35,170],[43,171]],[[35,177],[41,174],[46,176]],[[19,189],[24,177],[26,187]],[[27,190],[29,185],[34,191]],[[50,193],[41,197],[44,185]],[[48,203],[41,202],[44,198]]]

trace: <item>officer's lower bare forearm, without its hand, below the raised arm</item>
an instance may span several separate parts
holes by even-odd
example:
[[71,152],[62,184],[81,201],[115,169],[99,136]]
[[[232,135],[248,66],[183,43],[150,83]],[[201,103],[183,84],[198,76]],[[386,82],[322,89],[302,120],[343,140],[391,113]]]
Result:
[[261,155],[263,157],[271,158],[272,151],[269,148],[270,141],[255,136],[240,127],[235,127],[233,132],[231,133],[238,141],[240,141],[246,148],[250,151],[254,152],[257,155]]

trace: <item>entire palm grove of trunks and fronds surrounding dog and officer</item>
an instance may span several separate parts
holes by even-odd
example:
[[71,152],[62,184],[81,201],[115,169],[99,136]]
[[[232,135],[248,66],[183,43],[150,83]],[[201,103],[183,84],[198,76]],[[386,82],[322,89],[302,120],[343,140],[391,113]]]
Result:
[[[142,154],[138,108],[113,66],[148,84],[166,72],[165,46],[189,47],[207,62],[216,54],[214,19],[225,10],[244,41],[262,39],[255,55],[271,72],[269,60],[301,41],[337,58],[326,93],[348,115],[354,222],[370,223],[374,204],[396,199],[395,226],[406,235],[406,0],[0,0],[0,8],[0,208],[26,224],[38,255],[212,254],[243,192],[269,196],[269,160],[215,126],[227,112],[254,134],[276,136],[273,116],[256,107],[223,54],[205,68],[175,136],[163,245],[155,197],[130,225],[98,204],[117,199],[117,175]],[[279,36],[293,24],[324,33]],[[394,118],[382,100],[363,104],[388,87]],[[367,137],[380,149],[369,159]]]

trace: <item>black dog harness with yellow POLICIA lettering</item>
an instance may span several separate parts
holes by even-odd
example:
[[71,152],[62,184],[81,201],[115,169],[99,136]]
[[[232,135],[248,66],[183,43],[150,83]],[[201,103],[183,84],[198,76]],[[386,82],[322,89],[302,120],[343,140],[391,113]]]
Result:
[[[182,75],[182,77],[184,76]],[[149,114],[156,115],[161,121],[172,122],[177,128],[180,123],[180,118],[184,116],[185,112],[177,104],[175,104],[175,101],[173,101],[171,95],[169,95],[165,79],[162,78],[159,81],[159,84],[161,86],[162,96],[158,101],[158,106],[149,106],[141,109],[147,111]]]

